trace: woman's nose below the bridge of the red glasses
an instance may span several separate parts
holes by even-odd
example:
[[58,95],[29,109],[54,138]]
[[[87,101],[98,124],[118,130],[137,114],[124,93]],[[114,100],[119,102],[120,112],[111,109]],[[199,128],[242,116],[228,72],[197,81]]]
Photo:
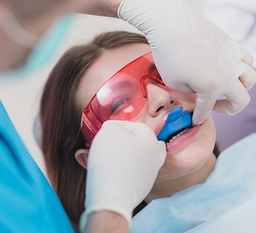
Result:
[[170,112],[177,108],[177,98],[171,94],[171,89],[167,86],[147,83],[146,93],[148,111],[152,117],[157,117],[161,112]]

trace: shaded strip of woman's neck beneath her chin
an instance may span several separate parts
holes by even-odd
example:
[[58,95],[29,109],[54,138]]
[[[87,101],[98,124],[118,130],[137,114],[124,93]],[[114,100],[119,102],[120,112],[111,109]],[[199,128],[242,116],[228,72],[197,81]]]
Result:
[[149,193],[148,196],[145,198],[145,202],[148,204],[149,202],[157,198],[170,197],[178,191],[206,181],[210,173],[212,173],[212,171],[214,170],[215,164],[216,157],[212,153],[208,161],[206,161],[206,163],[198,171],[178,179],[171,179],[155,184],[153,189],[151,190],[151,193]]

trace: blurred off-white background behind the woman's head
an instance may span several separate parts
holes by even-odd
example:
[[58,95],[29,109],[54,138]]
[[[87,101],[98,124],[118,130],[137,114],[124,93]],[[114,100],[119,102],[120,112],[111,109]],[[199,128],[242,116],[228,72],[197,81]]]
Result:
[[[187,0],[198,10],[202,11],[206,4],[205,0]],[[84,44],[88,40],[102,31],[112,31],[123,29],[137,31],[120,19],[108,17],[96,17],[91,15],[75,15],[75,19],[61,42],[58,52],[52,56],[50,62],[40,70],[32,72],[22,79],[1,80],[0,97],[15,125],[19,135],[22,137],[32,157],[45,173],[45,165],[42,159],[40,147],[36,143],[33,134],[34,120],[38,114],[40,96],[48,74],[63,52],[76,44]]]

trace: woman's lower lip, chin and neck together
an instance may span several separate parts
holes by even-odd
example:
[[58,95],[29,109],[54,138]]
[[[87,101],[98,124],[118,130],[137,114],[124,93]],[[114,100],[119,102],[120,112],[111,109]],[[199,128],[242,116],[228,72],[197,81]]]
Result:
[[204,182],[216,164],[216,157],[212,153],[214,145],[215,127],[212,117],[175,138],[167,145],[165,163],[145,201],[149,203],[157,198],[169,197]]

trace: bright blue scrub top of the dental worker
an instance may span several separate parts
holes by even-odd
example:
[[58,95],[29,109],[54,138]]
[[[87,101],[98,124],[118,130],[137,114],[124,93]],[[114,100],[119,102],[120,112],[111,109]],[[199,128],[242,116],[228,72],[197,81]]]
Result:
[[0,101],[0,232],[75,232]]

